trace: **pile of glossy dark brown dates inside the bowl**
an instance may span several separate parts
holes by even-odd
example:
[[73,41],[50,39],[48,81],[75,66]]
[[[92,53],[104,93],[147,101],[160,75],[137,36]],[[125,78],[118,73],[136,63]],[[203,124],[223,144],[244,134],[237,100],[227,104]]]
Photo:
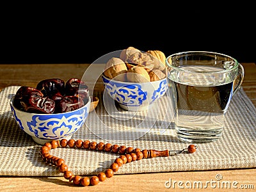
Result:
[[21,86],[14,97],[14,106],[28,113],[52,114],[74,111],[83,107],[89,95],[81,79],[44,79],[36,88]]

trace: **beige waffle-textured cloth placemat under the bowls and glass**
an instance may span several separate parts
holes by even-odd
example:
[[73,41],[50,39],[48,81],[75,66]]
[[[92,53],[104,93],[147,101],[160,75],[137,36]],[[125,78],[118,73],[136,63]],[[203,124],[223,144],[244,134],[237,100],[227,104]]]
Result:
[[[42,162],[38,154],[40,145],[23,132],[13,119],[9,101],[18,88],[10,86],[0,92],[0,175],[63,175],[56,167]],[[109,106],[102,103],[102,95],[98,93],[96,96],[100,97],[99,106],[72,136],[75,140],[157,150],[188,147],[188,143],[181,143],[175,138],[174,126],[170,123],[172,120],[166,118],[166,95],[148,111],[128,113],[118,110],[109,114],[106,110]],[[194,154],[141,159],[124,164],[116,174],[256,167],[255,114],[255,107],[241,88],[230,102],[225,130],[219,140],[196,144],[198,150]],[[68,168],[76,175],[93,175],[104,171],[118,157],[117,154],[72,148],[56,148],[52,150],[52,155],[63,157]]]

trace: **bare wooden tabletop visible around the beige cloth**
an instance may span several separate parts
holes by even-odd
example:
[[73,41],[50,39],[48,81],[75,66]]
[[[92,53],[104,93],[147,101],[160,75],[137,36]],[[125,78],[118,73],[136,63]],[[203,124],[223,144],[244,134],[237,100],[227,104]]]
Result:
[[[243,90],[256,106],[256,65],[242,63],[245,70]],[[33,64],[33,65],[0,65],[0,90],[6,86],[26,85],[35,87],[38,81],[58,77],[67,81],[70,77],[81,78],[88,64]],[[102,84],[96,84],[95,90],[102,90]],[[214,180],[217,174],[223,179],[237,181],[237,187],[256,188],[256,169],[209,170],[191,172],[163,172],[115,175],[111,179],[100,182],[97,186],[79,187],[68,182],[63,177],[12,177],[0,176],[0,191],[180,191],[166,188],[165,183],[170,179],[175,181],[196,180],[206,182]],[[184,185],[183,185],[184,186]],[[188,189],[188,191],[202,189]],[[215,189],[208,186],[205,191],[232,191],[232,189]],[[233,189],[234,190],[234,189]],[[238,191],[238,189],[235,189]],[[246,191],[246,190],[242,190]],[[249,189],[253,191],[253,189]]]

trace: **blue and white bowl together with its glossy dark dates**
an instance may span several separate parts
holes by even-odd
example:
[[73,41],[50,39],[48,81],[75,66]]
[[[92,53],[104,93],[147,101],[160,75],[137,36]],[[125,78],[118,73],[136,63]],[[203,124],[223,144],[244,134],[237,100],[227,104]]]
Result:
[[20,86],[10,100],[20,129],[44,145],[52,140],[69,140],[84,124],[91,98],[88,86],[77,78],[44,79],[36,88]]

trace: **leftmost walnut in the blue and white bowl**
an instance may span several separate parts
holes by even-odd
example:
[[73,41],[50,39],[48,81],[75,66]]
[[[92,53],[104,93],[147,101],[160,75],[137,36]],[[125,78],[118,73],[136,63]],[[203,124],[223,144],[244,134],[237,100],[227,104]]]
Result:
[[105,65],[104,76],[116,81],[126,81],[127,67],[120,58],[111,58]]

